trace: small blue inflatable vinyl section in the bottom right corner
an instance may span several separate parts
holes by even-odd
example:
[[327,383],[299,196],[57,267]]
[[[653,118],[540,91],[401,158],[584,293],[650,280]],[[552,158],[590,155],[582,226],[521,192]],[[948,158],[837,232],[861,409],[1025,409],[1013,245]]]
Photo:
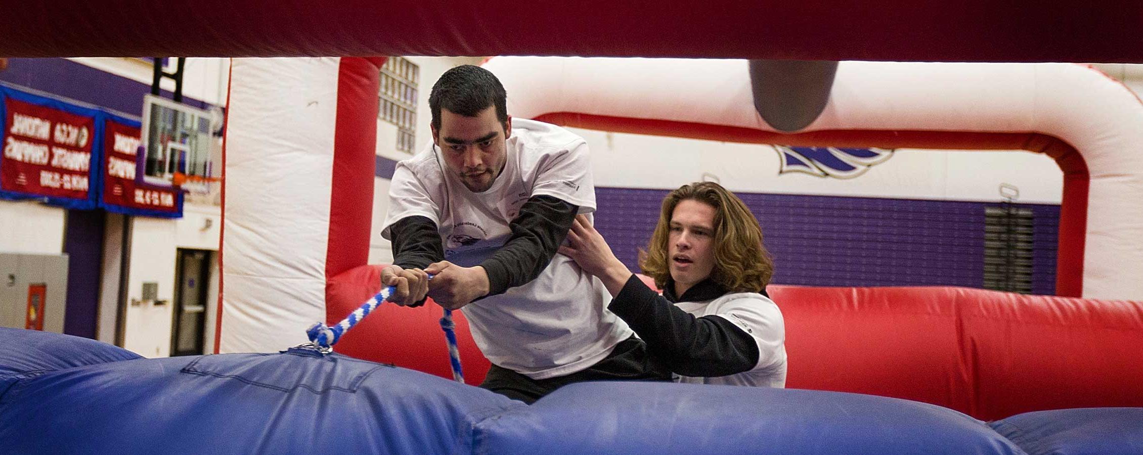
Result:
[[1143,408],[1038,410],[990,425],[1029,455],[1143,454]]

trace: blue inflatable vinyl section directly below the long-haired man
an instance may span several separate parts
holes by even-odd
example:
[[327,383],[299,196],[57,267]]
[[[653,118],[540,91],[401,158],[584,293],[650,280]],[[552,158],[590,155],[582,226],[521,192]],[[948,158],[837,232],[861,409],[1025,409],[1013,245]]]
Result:
[[1023,454],[916,401],[813,390],[578,383],[478,426],[478,454]]

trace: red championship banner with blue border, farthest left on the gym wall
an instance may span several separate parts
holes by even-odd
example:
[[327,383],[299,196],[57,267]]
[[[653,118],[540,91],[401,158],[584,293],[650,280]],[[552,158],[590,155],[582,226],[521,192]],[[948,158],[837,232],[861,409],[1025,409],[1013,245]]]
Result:
[[0,86],[0,198],[96,207],[102,112]]

